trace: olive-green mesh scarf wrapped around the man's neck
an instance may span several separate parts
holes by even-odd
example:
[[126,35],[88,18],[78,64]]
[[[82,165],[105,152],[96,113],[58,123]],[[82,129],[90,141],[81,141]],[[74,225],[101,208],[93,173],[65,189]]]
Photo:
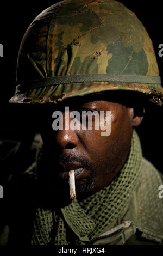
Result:
[[37,209],[32,245],[86,245],[87,241],[101,234],[129,203],[141,164],[141,144],[134,131],[128,159],[108,186],[82,202],[73,200],[59,213]]

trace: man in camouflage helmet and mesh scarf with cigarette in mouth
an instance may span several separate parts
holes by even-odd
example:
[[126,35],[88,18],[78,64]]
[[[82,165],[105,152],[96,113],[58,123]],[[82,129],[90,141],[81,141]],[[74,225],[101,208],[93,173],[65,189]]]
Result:
[[[10,103],[36,106],[43,144],[30,168],[33,218],[21,205],[16,224],[10,221],[9,241],[161,245],[162,175],[143,158],[135,127],[148,104],[162,104],[163,89],[152,41],[136,15],[114,0],[52,5],[24,35],[17,84]],[[79,113],[111,111],[110,135],[65,129],[65,122],[54,131],[52,113],[65,117],[65,106]],[[74,200],[69,198],[70,170]]]

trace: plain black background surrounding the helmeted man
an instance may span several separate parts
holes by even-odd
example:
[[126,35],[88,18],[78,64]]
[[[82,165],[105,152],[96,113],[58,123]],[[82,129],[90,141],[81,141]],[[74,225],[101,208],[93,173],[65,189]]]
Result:
[[[8,100],[15,93],[18,48],[34,18],[55,2],[59,1],[1,1],[0,44],[4,47],[4,57],[0,57],[0,140],[19,141],[28,132],[28,127],[24,129],[26,117],[23,116],[22,108],[8,105]],[[158,56],[158,45],[163,43],[161,1],[122,0],[120,2],[134,11],[151,36],[163,81],[163,57]],[[28,117],[29,113],[24,113]],[[28,125],[32,127],[32,122]],[[162,128],[162,108],[154,108],[149,109],[137,130],[142,142],[143,155],[161,172],[163,172]],[[0,157],[4,156],[8,149],[0,145]]]

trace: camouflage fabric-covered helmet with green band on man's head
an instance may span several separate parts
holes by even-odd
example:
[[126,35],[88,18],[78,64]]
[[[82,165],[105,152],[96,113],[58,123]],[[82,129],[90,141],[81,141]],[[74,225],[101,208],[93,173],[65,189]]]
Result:
[[141,92],[161,105],[152,41],[114,0],[65,0],[43,11],[23,37],[10,103],[57,103],[109,90]]

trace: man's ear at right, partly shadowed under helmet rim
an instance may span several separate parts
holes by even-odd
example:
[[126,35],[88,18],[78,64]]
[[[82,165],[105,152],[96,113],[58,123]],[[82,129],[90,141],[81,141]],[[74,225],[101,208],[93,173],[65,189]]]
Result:
[[145,108],[141,108],[141,109],[129,108],[131,126],[132,127],[139,126],[143,120],[144,114],[145,114]]

